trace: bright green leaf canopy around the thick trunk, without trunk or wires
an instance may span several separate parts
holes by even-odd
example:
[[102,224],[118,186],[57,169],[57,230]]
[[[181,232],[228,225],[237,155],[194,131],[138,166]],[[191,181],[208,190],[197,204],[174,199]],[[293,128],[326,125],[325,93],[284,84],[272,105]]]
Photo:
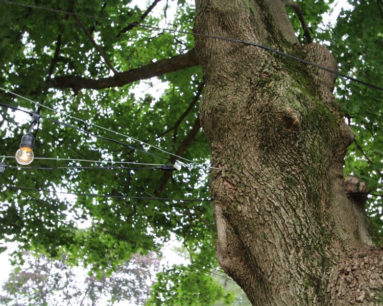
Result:
[[[148,12],[147,16],[146,9],[129,5],[130,1],[29,0],[28,3],[155,26],[163,25],[166,18],[166,22],[170,22],[167,27],[182,31],[193,31],[195,17],[193,4],[182,0],[155,1],[153,4],[157,6],[157,13]],[[147,8],[151,4],[147,3]],[[377,7],[381,7],[379,0],[350,0],[352,9],[341,12],[333,29],[321,24],[321,14],[329,9],[327,2],[302,0],[299,4],[311,36],[315,41],[329,45],[341,63],[342,72],[380,86],[383,84],[383,62],[379,56],[383,43],[383,15]],[[174,20],[169,14],[170,6],[177,6]],[[288,11],[303,42],[300,22],[293,10],[289,8]],[[166,73],[157,79],[116,84],[101,90],[84,89],[80,83],[64,88],[57,81],[58,77],[66,75],[88,79],[109,77],[113,72],[104,58],[110,60],[113,69],[123,72],[185,54],[194,46],[191,35],[138,26],[125,29],[127,24],[124,23],[74,17],[5,2],[0,3],[0,27],[1,87],[168,152],[178,151],[189,160],[198,163],[208,161],[209,147],[203,131],[199,129],[198,119],[199,96],[203,90],[203,74],[199,66]],[[93,37],[94,42],[86,33]],[[94,43],[102,49],[103,55]],[[362,177],[374,190],[372,193],[378,194],[383,174],[381,92],[340,79],[337,84],[337,96],[356,135],[345,163],[345,174],[354,173]],[[26,100],[9,93],[0,94],[3,103],[35,110],[34,105]],[[141,150],[168,159],[172,157],[140,142],[97,130],[53,111],[41,107],[39,111],[43,116],[129,143]],[[28,131],[30,118],[2,108],[0,119],[0,154],[13,156],[21,136]],[[195,130],[198,133],[192,133]],[[96,139],[43,119],[33,134],[36,137],[36,157],[170,164],[169,160]],[[5,164],[15,166],[16,162],[5,159]],[[35,160],[31,164],[35,167],[68,165],[96,164],[53,160]],[[206,171],[183,167],[172,177],[166,175],[160,170],[7,168],[0,176],[0,182],[100,195],[209,197]],[[20,244],[19,258],[15,262],[22,257],[22,250],[33,250],[52,258],[64,252],[68,262],[75,264],[80,261],[102,276],[104,272],[111,273],[137,251],[147,253],[150,249],[159,249],[173,232],[183,241],[195,265],[205,269],[217,268],[213,247],[216,232],[209,202],[65,197],[1,188],[0,237],[4,242],[16,241]],[[381,230],[381,198],[371,197],[367,205],[370,216]],[[183,287],[182,279],[185,277],[196,285]],[[172,287],[166,287],[166,282],[173,284]],[[210,284],[216,293],[204,291],[203,286],[198,284]],[[151,301],[155,304],[159,296],[156,293],[165,294],[167,288],[171,288],[172,292],[163,295],[165,299],[169,295],[169,303],[189,299],[190,295],[186,293],[192,293],[192,289],[199,294],[195,300],[200,304],[211,304],[222,297],[229,303],[231,297],[216,286],[209,274],[178,267],[159,275]],[[177,298],[170,298],[177,290]]]

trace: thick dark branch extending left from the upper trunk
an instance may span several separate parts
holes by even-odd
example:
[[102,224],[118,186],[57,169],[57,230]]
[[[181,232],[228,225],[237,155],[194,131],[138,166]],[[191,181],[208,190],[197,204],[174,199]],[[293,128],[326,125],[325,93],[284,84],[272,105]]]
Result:
[[73,88],[75,91],[78,91],[81,88],[104,89],[109,87],[121,87],[135,81],[157,77],[157,75],[196,65],[199,65],[199,62],[195,50],[192,49],[185,54],[177,55],[170,59],[164,59],[155,63],[150,63],[146,66],[117,73],[113,75],[113,77],[93,80],[78,77],[77,75],[69,75],[67,77],[54,78],[50,83],[56,88]]

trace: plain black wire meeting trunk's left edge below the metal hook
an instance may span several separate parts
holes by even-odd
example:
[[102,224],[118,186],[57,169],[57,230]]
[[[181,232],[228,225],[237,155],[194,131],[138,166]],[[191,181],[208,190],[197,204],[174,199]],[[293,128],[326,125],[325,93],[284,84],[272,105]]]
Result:
[[32,187],[8,186],[5,184],[0,184],[0,187],[6,187],[6,188],[18,189],[18,190],[52,192],[52,193],[61,193],[61,194],[71,194],[76,196],[89,196],[89,197],[115,198],[115,199],[162,200],[162,201],[178,201],[178,202],[211,202],[210,199],[206,199],[206,200],[205,199],[172,199],[172,198],[160,198],[160,197],[105,195],[105,194],[97,194],[97,193],[78,193],[78,192],[65,192],[65,191],[57,191],[57,190],[53,191],[49,189],[39,189],[39,188],[32,188]]

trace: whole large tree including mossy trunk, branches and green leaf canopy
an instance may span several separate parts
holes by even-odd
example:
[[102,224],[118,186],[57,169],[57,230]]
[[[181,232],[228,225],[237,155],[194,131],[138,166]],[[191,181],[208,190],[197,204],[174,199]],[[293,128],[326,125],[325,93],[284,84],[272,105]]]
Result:
[[[1,3],[2,87],[197,163],[209,159],[210,145],[212,165],[221,169],[210,172],[218,235],[207,202],[65,200],[3,187],[5,240],[50,257],[67,253],[69,261],[82,261],[101,276],[138,250],[160,247],[171,232],[189,249],[194,265],[209,271],[217,267],[212,245],[218,236],[221,266],[253,304],[373,303],[381,298],[381,249],[372,248],[379,236],[364,212],[367,194],[381,192],[379,91],[338,80],[337,102],[333,75],[254,46],[206,37],[196,37],[195,46],[190,34],[80,15],[156,26],[171,2],[163,1],[159,17],[151,11],[161,1],[145,10],[117,0],[33,4],[69,14]],[[323,41],[342,63],[342,72],[383,83],[379,0],[350,1],[353,9],[341,13],[334,29],[321,27],[320,16],[328,10],[324,1],[200,0],[196,9],[184,1],[177,4],[173,29],[262,43],[337,69],[324,47],[301,44]],[[152,77],[166,84],[163,94],[137,98],[138,82]],[[8,104],[33,109],[12,94],[2,95]],[[25,129],[13,111],[2,117],[2,154],[11,156]],[[93,127],[92,132],[163,154],[122,135]],[[34,134],[40,157],[166,162],[47,120]],[[175,161],[172,155],[166,158]],[[53,162],[36,160],[33,165],[52,167]],[[345,184],[344,174],[351,172],[368,187],[354,178]],[[205,174],[198,168],[174,173],[7,168],[2,180],[77,193],[206,199]],[[381,197],[374,199],[367,203],[368,212],[381,231]],[[80,230],[79,224],[88,220],[88,230]],[[183,276],[180,269],[161,277],[180,284],[175,277]]]

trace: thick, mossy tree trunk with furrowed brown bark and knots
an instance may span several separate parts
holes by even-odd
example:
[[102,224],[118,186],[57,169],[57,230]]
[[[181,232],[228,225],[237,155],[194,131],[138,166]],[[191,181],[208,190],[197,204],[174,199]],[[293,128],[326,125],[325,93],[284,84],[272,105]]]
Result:
[[[336,69],[328,50],[296,44],[280,0],[197,0],[195,30],[249,40]],[[334,76],[269,52],[196,37],[206,90],[217,257],[254,305],[379,304],[382,249],[363,197],[346,195],[353,139]],[[356,184],[355,184],[356,183]],[[363,191],[354,179],[348,191]]]

